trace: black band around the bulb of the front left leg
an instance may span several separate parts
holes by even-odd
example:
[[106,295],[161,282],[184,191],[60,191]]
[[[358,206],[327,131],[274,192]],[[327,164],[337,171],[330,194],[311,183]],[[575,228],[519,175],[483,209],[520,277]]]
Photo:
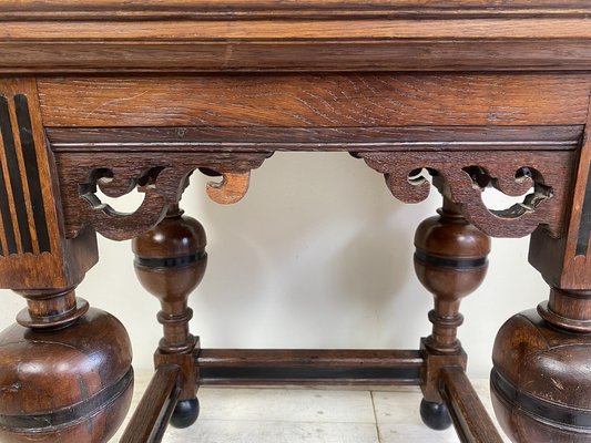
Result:
[[92,416],[93,412],[109,408],[133,383],[133,369],[113,385],[98,392],[90,399],[62,410],[34,415],[0,415],[0,426],[8,429],[41,430],[57,427],[79,420],[81,416]]

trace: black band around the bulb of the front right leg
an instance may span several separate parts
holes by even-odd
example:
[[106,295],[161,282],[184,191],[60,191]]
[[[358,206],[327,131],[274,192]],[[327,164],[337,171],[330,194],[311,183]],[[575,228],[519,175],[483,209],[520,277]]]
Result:
[[490,372],[491,385],[506,402],[529,415],[572,427],[591,427],[591,411],[561,406],[518,391],[496,370]]

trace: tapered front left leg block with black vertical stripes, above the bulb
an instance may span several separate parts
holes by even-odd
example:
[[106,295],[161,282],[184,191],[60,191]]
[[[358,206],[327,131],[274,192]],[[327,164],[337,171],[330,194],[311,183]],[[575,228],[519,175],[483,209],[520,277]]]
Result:
[[0,79],[0,287],[70,287],[96,262],[91,233],[63,238],[60,210],[37,84]]

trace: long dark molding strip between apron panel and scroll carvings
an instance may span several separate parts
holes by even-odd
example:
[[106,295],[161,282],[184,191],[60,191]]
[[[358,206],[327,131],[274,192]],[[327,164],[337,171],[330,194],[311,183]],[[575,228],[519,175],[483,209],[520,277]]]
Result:
[[176,151],[562,151],[583,125],[48,127],[55,153]]

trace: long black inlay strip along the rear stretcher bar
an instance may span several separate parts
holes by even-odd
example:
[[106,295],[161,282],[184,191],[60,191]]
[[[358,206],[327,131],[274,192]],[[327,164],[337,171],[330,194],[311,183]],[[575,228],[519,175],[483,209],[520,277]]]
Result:
[[420,380],[420,368],[200,367],[200,379],[223,380]]

